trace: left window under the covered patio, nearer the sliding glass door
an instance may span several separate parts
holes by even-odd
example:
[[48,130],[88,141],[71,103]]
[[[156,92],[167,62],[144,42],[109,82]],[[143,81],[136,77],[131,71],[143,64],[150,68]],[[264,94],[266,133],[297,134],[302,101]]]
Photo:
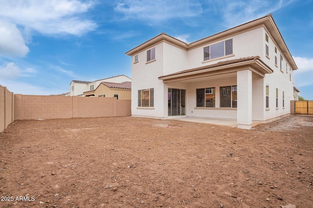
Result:
[[215,87],[197,89],[197,107],[215,107]]

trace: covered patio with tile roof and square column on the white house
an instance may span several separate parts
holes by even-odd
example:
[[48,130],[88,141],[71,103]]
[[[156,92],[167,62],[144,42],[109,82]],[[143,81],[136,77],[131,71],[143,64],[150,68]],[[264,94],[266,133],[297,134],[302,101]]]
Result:
[[[171,99],[164,94],[168,118],[186,115],[179,119],[250,129],[264,120],[264,77],[270,73],[272,70],[260,57],[244,57],[158,78],[166,91],[180,91],[180,96]],[[180,114],[173,113],[177,106]]]

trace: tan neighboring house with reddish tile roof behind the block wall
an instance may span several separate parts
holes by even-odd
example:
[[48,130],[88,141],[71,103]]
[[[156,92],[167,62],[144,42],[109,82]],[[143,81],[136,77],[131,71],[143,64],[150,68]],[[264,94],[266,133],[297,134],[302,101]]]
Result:
[[94,90],[84,92],[84,96],[116,97],[120,100],[132,99],[132,82],[101,82]]

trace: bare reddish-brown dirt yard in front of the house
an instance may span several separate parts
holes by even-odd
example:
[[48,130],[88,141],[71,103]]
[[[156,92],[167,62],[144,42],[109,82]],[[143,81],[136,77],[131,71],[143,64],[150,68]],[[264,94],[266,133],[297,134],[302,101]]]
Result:
[[312,208],[312,182],[312,116],[252,130],[135,117],[20,120],[0,133],[4,208]]

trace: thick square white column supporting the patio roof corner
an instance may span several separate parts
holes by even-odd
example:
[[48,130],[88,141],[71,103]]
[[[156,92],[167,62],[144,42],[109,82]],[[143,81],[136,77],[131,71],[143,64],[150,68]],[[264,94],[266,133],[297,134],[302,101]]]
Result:
[[252,125],[252,72],[237,72],[237,127],[251,129]]

